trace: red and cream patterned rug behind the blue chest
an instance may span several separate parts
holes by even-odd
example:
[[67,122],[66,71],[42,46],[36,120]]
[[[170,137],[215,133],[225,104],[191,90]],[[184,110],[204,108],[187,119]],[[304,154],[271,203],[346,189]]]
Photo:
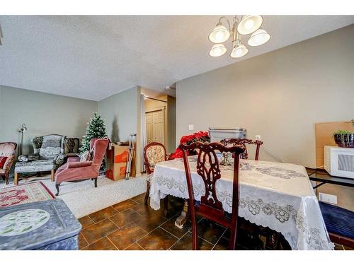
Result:
[[53,199],[54,195],[42,182],[21,184],[0,189],[0,207],[29,204]]

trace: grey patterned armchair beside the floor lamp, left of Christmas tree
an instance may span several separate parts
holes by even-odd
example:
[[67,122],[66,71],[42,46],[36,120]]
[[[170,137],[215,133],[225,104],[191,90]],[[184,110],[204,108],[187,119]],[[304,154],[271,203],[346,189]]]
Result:
[[54,182],[54,173],[64,163],[64,141],[66,136],[50,134],[38,136],[32,140],[34,153],[20,155],[15,165],[15,185],[18,175],[25,172],[50,171]]

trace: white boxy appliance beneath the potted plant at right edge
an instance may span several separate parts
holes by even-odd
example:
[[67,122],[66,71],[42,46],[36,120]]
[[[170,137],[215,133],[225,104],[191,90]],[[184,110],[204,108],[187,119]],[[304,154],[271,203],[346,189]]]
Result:
[[329,175],[354,179],[354,148],[324,146],[324,169]]

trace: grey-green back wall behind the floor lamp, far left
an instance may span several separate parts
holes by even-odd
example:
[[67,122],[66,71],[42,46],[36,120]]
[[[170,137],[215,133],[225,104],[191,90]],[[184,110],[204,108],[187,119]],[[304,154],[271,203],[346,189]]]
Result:
[[20,143],[18,129],[25,123],[23,153],[33,151],[31,139],[62,134],[82,139],[97,102],[0,86],[0,142]]

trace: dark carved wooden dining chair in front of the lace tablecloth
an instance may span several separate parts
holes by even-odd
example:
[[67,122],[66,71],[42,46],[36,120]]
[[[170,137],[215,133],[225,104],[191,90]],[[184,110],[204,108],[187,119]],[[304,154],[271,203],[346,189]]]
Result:
[[[195,220],[195,214],[203,216],[209,220],[212,220],[220,225],[224,225],[230,228],[230,242],[229,249],[235,249],[236,247],[236,228],[237,228],[237,216],[239,210],[239,157],[241,153],[244,153],[243,146],[226,147],[221,143],[200,143],[195,142],[190,146],[181,144],[179,148],[183,151],[183,162],[185,167],[185,177],[187,178],[190,216],[192,218],[192,232],[193,232],[193,249],[198,249],[198,235],[197,235],[197,223]],[[187,151],[197,151],[197,173],[205,185],[205,195],[203,195],[200,201],[195,201],[193,194],[193,183],[190,175],[190,167],[187,157]],[[222,203],[217,199],[215,185],[217,179],[221,177],[219,160],[215,151],[231,152],[234,154],[234,179],[232,184],[232,214],[231,219],[227,216],[226,212],[222,208]]]

